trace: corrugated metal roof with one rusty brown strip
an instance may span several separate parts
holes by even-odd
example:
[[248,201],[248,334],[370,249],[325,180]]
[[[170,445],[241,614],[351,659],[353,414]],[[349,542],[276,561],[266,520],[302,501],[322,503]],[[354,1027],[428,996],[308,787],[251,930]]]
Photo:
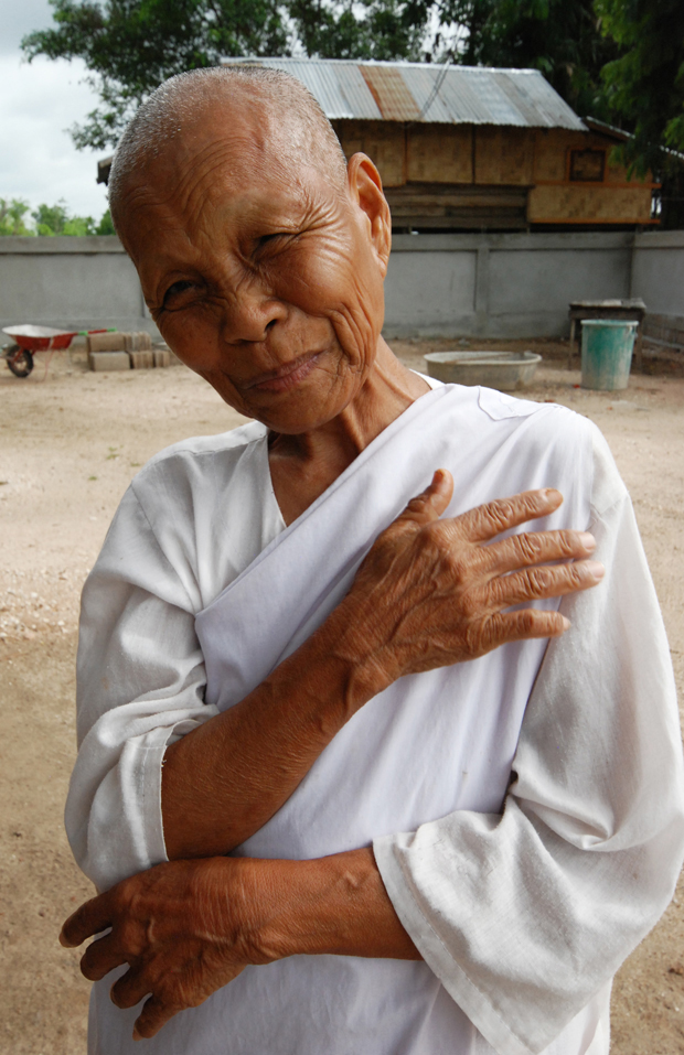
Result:
[[441,125],[585,126],[537,69],[349,62],[336,58],[229,58],[298,77],[331,120],[425,121]]

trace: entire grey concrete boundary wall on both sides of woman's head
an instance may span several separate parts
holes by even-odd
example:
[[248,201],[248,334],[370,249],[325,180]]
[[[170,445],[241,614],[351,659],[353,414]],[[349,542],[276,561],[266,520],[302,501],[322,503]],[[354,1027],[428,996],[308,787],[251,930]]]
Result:
[[[641,297],[684,316],[684,232],[397,235],[389,336],[560,336],[568,302]],[[116,238],[0,238],[0,327],[116,326],[157,334]]]

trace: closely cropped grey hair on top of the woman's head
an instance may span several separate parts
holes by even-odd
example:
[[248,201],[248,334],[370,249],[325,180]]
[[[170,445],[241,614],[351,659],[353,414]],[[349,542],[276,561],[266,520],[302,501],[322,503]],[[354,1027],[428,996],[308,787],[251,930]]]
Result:
[[332,125],[308,88],[280,69],[214,66],[165,80],[137,111],[117,147],[109,176],[115,224],[126,190],[216,111],[258,115],[265,134],[292,161],[318,169],[343,186],[346,159]]

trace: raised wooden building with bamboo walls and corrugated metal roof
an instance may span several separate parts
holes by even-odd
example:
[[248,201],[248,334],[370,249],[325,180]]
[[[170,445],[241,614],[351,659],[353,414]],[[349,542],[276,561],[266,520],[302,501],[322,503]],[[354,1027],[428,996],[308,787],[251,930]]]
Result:
[[[346,157],[383,179],[395,230],[605,229],[658,224],[650,180],[611,160],[624,133],[580,118],[534,69],[342,60],[229,60],[312,91]],[[98,179],[106,181],[108,161]]]

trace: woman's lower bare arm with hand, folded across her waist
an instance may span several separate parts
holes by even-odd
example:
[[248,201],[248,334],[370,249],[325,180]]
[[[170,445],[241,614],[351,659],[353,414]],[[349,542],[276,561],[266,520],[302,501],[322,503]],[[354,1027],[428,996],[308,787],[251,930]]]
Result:
[[297,954],[420,959],[399,923],[370,849],[316,861],[210,858],[173,861],[124,880],[82,905],[62,945],[86,949],[96,981],[121,964],[119,1008],[151,993],[133,1037],[150,1037],[179,1011],[203,1003],[249,964]]

